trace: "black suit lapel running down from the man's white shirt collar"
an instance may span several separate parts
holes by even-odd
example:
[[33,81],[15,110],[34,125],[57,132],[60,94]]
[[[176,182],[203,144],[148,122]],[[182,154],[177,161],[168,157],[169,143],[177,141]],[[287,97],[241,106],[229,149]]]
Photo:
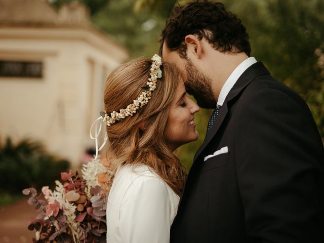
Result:
[[193,161],[195,161],[198,156],[203,152],[203,150],[207,147],[207,145],[210,143],[212,138],[217,134],[217,131],[219,130],[220,126],[222,125],[226,114],[228,112],[228,102],[235,98],[246,86],[248,86],[253,79],[256,77],[263,75],[263,74],[269,74],[269,71],[266,69],[266,67],[261,63],[257,62],[253,65],[251,65],[242,75],[237,79],[235,85],[228,93],[224,104],[222,108],[219,111],[218,116],[216,117],[214,126],[209,131],[208,135],[206,136],[203,144],[200,146],[198,151],[196,152]]

